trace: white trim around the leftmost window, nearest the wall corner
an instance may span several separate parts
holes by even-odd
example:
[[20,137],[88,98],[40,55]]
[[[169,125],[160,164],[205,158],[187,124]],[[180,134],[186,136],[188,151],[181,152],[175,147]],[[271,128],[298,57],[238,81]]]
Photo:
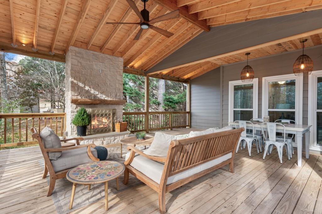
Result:
[[233,122],[233,106],[234,99],[232,92],[235,85],[253,84],[253,108],[252,109],[239,109],[239,110],[253,110],[253,118],[258,118],[258,78],[253,79],[252,82],[242,82],[241,80],[229,81],[229,103],[228,103],[228,121]]

